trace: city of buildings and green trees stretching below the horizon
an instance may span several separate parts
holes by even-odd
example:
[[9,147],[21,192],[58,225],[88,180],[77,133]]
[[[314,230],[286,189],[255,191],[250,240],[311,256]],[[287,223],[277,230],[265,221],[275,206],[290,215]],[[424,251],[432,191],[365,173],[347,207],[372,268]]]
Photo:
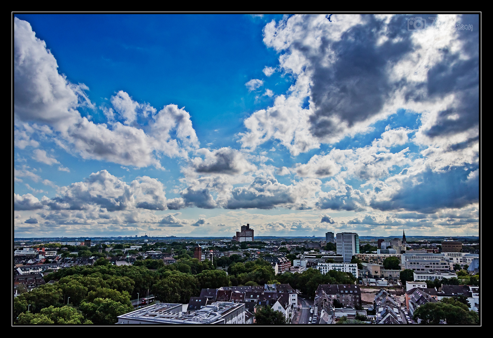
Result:
[[[477,237],[255,239],[250,224],[239,230],[194,241],[16,238],[14,323],[480,323]],[[51,305],[40,308],[46,292]],[[433,315],[442,304],[452,306]]]

